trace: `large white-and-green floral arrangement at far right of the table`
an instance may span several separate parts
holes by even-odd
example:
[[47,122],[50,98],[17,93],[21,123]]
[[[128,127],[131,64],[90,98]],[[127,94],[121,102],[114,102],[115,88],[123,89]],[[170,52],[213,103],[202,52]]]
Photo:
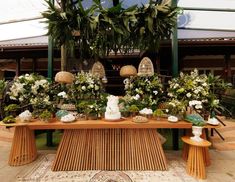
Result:
[[[177,112],[177,103],[198,112],[212,112],[215,108],[221,108],[216,91],[221,93],[230,86],[231,84],[225,83],[219,76],[198,74],[197,69],[190,74],[181,72],[179,77],[169,81],[169,104],[172,103],[170,105],[175,107],[174,112]],[[180,110],[178,109],[178,112]]]

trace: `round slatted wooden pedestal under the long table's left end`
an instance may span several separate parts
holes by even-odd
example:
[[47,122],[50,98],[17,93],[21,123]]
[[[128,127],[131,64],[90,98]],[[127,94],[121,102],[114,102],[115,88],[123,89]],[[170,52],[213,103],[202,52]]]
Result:
[[37,158],[35,137],[27,126],[16,126],[8,164],[21,166]]

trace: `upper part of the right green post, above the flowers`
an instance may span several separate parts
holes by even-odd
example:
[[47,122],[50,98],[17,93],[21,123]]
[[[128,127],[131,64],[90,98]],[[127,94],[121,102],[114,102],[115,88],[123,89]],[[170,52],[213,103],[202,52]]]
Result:
[[[172,0],[172,7],[176,6],[177,6],[177,0]],[[171,42],[172,76],[176,77],[179,74],[177,24],[173,27],[171,41],[172,41]]]

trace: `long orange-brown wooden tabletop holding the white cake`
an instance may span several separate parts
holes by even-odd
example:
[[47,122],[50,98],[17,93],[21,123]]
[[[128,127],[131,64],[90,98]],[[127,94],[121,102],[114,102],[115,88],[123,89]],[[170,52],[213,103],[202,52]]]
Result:
[[[49,122],[44,122],[38,119],[33,119],[28,123],[16,123],[16,124],[4,124],[4,126],[27,126],[32,130],[39,129],[107,129],[107,128],[129,128],[129,129],[141,129],[141,128],[181,128],[190,129],[192,128],[192,123],[187,121],[170,122],[167,118],[149,119],[146,123],[135,123],[132,118],[124,118],[118,121],[107,121],[101,120],[77,120],[75,122],[63,123],[56,118],[51,119]],[[220,126],[206,125],[205,128],[217,128]]]

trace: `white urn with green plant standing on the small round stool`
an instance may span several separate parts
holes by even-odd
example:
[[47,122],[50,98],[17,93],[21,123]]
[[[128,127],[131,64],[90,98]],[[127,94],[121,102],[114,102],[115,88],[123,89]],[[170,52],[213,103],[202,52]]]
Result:
[[203,126],[206,124],[204,119],[199,114],[188,114],[186,115],[185,120],[193,124],[192,133],[194,136],[190,139],[196,142],[201,142],[203,139],[200,135],[202,134]]

